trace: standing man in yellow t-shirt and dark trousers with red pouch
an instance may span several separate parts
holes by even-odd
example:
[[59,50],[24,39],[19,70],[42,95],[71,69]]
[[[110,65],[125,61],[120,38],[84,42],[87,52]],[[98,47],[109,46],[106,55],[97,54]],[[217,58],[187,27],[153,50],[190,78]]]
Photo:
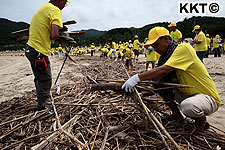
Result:
[[38,101],[36,111],[45,109],[45,103],[50,96],[52,75],[48,56],[51,40],[56,40],[59,29],[63,28],[61,10],[67,2],[69,1],[50,0],[37,10],[30,24],[25,54],[34,73]]

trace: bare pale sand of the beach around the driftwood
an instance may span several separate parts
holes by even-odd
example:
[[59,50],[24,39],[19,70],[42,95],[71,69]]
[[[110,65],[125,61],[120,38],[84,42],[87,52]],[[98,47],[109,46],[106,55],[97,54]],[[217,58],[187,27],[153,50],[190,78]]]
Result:
[[[89,56],[86,56],[89,57]],[[140,61],[144,62],[144,56],[140,56]],[[58,56],[51,56],[51,67],[53,75],[53,83],[63,63],[63,59]],[[222,103],[225,103],[225,55],[220,58],[214,58],[210,55],[209,58],[204,59],[205,66],[214,80]],[[57,84],[73,84],[73,77],[82,77],[84,74],[77,73],[77,67],[65,64],[62,74]],[[144,70],[145,68],[143,68]],[[67,78],[65,78],[67,77]],[[0,102],[10,100],[13,97],[20,97],[26,91],[35,89],[33,83],[33,74],[30,69],[30,64],[26,57],[23,56],[0,56]],[[222,105],[217,112],[208,116],[208,121],[211,125],[225,131],[225,105]]]

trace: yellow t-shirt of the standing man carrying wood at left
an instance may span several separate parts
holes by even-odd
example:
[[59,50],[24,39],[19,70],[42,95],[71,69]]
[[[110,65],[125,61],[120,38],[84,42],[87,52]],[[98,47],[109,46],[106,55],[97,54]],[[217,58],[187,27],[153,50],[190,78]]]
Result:
[[51,25],[63,27],[61,10],[51,3],[41,6],[34,14],[27,44],[39,53],[46,56],[50,54],[51,48]]

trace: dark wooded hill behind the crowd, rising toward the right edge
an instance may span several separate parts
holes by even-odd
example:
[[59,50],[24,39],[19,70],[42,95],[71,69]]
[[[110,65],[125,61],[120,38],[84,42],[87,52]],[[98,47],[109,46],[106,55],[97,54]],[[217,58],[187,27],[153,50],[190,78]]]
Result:
[[[104,35],[96,39],[100,43],[110,41],[128,41],[134,40],[134,36],[138,35],[140,41],[144,41],[148,37],[148,32],[155,26],[162,26],[168,28],[169,22],[154,23],[146,25],[142,28],[118,28],[106,32]],[[204,33],[208,33],[211,37],[219,34],[225,38],[225,18],[223,17],[192,17],[185,18],[183,21],[177,22],[177,28],[182,32],[183,39],[187,37],[194,38],[195,34],[192,32],[195,25],[200,25]]]

